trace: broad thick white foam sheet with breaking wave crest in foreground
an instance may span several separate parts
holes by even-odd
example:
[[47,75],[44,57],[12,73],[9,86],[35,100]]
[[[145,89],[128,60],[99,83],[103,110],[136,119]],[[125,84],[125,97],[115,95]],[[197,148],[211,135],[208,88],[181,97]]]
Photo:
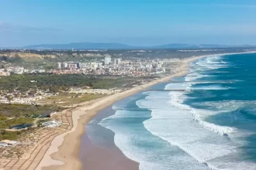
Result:
[[203,121],[203,117],[218,113],[195,110],[183,104],[186,97],[180,91],[172,91],[169,94],[171,97],[169,101],[164,98],[150,100],[154,98],[150,97],[151,95],[157,95],[155,92],[148,93],[149,97],[145,100],[137,101],[139,107],[152,110],[152,117],[144,121],[145,128],[151,134],[177,146],[210,169],[252,170],[256,168],[254,162],[236,158],[234,155],[240,153],[239,145],[223,136],[223,134],[234,134],[235,128]]

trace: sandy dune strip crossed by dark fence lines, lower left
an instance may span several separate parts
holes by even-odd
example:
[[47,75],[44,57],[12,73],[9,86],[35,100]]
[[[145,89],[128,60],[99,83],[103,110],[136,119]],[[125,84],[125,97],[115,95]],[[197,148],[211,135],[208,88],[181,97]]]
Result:
[[[0,159],[0,170],[33,170],[36,169],[37,165],[41,162],[43,155],[45,155],[47,149],[50,147],[53,139],[65,131],[70,131],[73,128],[72,111],[74,109],[65,110],[64,113],[58,115],[58,119],[62,122],[61,131],[48,128],[40,140],[33,145],[29,154],[26,158],[1,158]],[[25,147],[22,145],[16,145],[17,149]]]

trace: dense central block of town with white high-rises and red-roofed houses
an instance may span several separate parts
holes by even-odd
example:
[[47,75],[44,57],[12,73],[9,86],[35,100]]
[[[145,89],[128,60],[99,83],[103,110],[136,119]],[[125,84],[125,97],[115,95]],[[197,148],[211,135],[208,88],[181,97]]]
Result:
[[164,60],[121,60],[105,56],[102,62],[92,63],[56,63],[57,70],[52,73],[116,76],[149,76],[165,73]]

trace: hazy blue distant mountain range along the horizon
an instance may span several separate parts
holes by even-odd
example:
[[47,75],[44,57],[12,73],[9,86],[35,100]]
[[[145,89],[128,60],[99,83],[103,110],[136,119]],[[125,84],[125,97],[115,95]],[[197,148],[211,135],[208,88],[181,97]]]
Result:
[[213,49],[213,48],[232,48],[244,47],[251,48],[255,46],[227,46],[217,44],[182,44],[172,43],[161,46],[129,46],[122,43],[93,43],[93,42],[76,42],[68,44],[41,44],[33,46],[22,46],[18,49]]

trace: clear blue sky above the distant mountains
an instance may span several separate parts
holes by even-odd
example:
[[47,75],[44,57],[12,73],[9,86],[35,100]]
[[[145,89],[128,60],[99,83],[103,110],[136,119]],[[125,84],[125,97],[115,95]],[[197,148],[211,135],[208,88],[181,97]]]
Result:
[[255,0],[0,0],[0,46],[256,45]]

